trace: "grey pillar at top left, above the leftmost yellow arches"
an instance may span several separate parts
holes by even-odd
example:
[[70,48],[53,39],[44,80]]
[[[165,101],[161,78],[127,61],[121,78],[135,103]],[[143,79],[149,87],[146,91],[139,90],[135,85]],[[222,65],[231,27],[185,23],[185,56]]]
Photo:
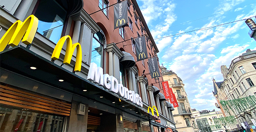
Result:
[[19,4],[18,8],[14,12],[14,16],[16,16],[21,21],[24,21],[24,18],[32,2],[33,0],[21,0],[21,3]]

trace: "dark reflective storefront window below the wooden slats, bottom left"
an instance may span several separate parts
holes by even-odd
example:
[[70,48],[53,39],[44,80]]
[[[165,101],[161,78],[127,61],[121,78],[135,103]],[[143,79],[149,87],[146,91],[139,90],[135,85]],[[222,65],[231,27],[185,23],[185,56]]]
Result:
[[62,132],[64,116],[0,107],[0,132]]

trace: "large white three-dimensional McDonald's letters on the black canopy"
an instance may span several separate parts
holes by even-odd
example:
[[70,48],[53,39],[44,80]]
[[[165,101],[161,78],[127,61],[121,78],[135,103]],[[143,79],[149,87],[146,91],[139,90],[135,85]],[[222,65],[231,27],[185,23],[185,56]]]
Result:
[[90,64],[87,79],[97,83],[105,89],[108,89],[110,92],[116,93],[120,97],[143,107],[142,99],[139,94],[135,94],[134,91],[123,87],[123,85],[119,84],[118,80],[114,76],[110,76],[109,74],[103,75],[103,69],[101,67],[97,67],[97,64],[93,62]]

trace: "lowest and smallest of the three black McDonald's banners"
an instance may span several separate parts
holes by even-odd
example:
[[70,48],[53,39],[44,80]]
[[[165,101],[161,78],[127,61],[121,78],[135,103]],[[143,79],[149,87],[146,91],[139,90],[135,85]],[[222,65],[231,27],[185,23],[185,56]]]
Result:
[[151,78],[161,77],[157,63],[157,57],[150,58],[148,61]]

